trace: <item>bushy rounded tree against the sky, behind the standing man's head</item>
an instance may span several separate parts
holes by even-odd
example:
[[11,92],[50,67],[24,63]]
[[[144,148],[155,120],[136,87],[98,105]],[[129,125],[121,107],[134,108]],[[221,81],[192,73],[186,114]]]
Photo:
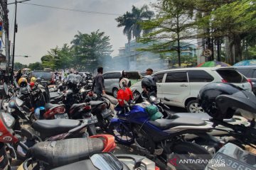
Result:
[[112,52],[110,36],[97,30],[90,34],[75,35],[71,41],[74,50],[74,61],[78,69],[92,71],[105,61]]

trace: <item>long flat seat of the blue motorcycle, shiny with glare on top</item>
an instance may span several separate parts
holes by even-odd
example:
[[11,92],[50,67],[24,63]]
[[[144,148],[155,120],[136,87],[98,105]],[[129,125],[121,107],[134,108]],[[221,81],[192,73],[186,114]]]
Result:
[[176,118],[176,119],[156,119],[156,120],[149,120],[149,123],[155,125],[156,127],[160,128],[161,130],[166,130],[169,128],[174,128],[176,126],[202,126],[206,125],[204,120],[194,119],[194,118]]

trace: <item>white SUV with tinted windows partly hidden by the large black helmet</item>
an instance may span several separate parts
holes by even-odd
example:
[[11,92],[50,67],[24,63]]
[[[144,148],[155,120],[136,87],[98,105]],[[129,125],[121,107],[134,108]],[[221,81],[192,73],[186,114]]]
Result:
[[[190,113],[203,112],[196,98],[200,89],[210,82],[229,82],[247,91],[252,91],[250,80],[232,67],[169,69],[156,72],[152,76],[157,79],[157,96],[163,99],[164,103],[186,108]],[[141,82],[134,84],[131,89],[134,91],[134,96],[141,94]]]

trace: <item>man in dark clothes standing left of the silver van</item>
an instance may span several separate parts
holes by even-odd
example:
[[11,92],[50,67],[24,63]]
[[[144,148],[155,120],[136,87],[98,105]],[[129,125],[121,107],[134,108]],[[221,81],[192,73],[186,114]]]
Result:
[[102,94],[105,93],[105,86],[104,86],[104,78],[102,77],[103,68],[97,68],[97,76],[93,79],[92,82],[92,91],[95,89],[95,93],[97,94],[97,100],[102,97]]

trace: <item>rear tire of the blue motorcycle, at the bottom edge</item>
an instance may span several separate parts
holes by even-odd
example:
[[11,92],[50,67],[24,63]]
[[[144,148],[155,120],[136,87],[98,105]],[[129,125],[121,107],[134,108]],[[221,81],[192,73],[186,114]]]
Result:
[[174,154],[177,154],[179,159],[176,160],[176,165],[171,162],[167,162],[167,169],[205,169],[207,165],[206,161],[202,161],[201,164],[196,162],[192,162],[192,164],[178,164],[178,162],[181,160],[181,157],[183,160],[194,159],[195,161],[198,161],[198,159],[210,160],[212,158],[205,148],[192,142],[178,142],[176,145],[171,147],[171,151],[174,152]]

